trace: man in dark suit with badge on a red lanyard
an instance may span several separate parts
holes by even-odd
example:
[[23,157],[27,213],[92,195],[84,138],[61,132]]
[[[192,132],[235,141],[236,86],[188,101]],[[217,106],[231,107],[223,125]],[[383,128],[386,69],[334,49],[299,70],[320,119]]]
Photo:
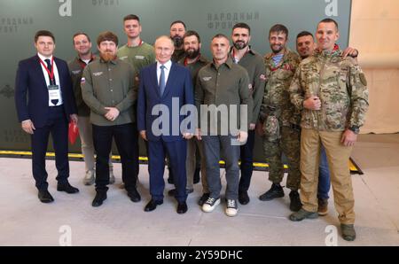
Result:
[[57,190],[76,193],[68,182],[68,120],[76,124],[76,105],[68,66],[53,57],[54,35],[35,34],[37,55],[20,61],[15,81],[15,105],[22,129],[31,135],[32,168],[38,197],[43,203],[54,199],[47,190],[45,156],[51,134],[56,156]]

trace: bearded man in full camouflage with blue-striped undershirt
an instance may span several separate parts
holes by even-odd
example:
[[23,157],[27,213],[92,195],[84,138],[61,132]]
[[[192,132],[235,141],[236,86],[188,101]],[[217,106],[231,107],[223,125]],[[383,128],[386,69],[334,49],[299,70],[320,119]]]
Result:
[[269,42],[272,52],[264,58],[266,65],[265,92],[262,102],[260,121],[263,132],[263,151],[269,164],[270,190],[259,198],[269,201],[284,197],[284,167],[282,153],[288,160],[286,187],[290,192],[290,209],[294,212],[301,209],[298,189],[300,187],[300,127],[301,114],[290,102],[290,87],[299,56],[286,47],[288,29],[284,25],[270,28]]

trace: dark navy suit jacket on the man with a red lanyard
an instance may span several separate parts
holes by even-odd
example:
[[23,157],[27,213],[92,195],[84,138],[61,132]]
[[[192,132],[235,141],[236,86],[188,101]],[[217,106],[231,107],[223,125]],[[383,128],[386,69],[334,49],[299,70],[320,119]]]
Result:
[[[77,113],[71,77],[66,61],[55,58],[66,121]],[[39,56],[21,60],[15,78],[15,105],[18,119],[32,120],[35,128],[43,128],[49,116],[49,92]]]

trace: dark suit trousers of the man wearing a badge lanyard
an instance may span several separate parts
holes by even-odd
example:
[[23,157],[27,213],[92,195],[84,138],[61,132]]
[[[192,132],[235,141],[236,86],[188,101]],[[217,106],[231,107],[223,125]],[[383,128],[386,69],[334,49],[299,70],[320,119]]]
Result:
[[[35,125],[35,123],[34,123]],[[66,183],[69,176],[68,163],[68,122],[62,105],[49,107],[49,117],[43,128],[36,128],[31,135],[32,171],[38,190],[47,190],[46,151],[51,134],[55,161],[58,171],[57,181]]]

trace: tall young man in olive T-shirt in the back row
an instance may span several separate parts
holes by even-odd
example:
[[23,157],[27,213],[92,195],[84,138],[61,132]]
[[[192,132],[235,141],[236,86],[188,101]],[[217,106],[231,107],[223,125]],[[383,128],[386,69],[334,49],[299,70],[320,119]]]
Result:
[[[128,43],[123,45],[116,53],[118,58],[128,62],[136,73],[135,85],[138,87],[140,82],[138,74],[145,66],[155,62],[155,52],[153,46],[145,43],[141,37],[141,23],[137,15],[129,14],[123,18],[123,30],[128,36]],[[136,109],[136,105],[133,105]],[[137,133],[138,134],[138,133]],[[137,135],[138,136],[138,135]],[[139,148],[137,148],[137,157],[139,156]],[[137,174],[139,173],[139,164],[137,162]],[[138,180],[138,178],[137,178]],[[124,186],[121,184],[121,189]]]

